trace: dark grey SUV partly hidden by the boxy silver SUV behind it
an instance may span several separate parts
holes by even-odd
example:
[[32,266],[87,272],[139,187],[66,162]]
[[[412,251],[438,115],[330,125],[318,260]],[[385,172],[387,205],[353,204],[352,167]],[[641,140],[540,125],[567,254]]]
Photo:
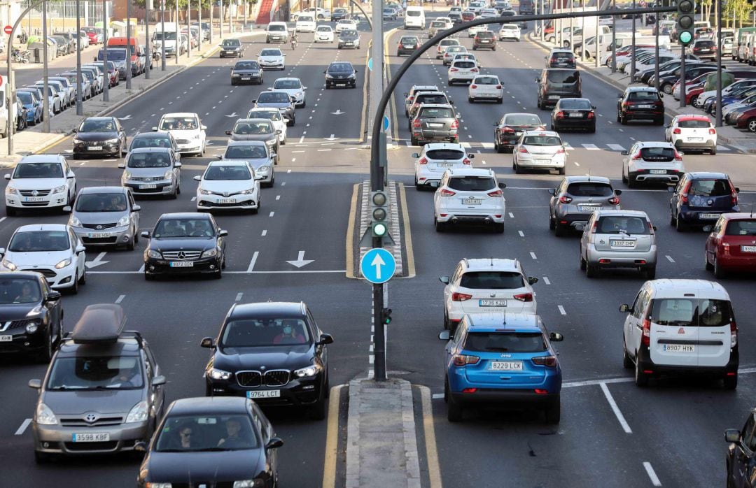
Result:
[[585,225],[596,210],[619,210],[622,190],[603,176],[568,176],[549,193],[549,228],[564,236],[569,227]]

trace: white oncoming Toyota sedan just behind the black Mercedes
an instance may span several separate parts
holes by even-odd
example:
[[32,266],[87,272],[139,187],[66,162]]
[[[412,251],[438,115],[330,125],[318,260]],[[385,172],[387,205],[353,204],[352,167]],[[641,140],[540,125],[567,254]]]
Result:
[[223,208],[256,214],[260,208],[259,178],[246,161],[211,161],[202,176],[194,177],[200,182],[197,211]]

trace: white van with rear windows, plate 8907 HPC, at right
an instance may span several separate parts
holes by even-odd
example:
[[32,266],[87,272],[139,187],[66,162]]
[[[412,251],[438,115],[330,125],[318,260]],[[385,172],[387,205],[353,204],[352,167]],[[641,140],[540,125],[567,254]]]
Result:
[[635,384],[666,373],[722,378],[738,386],[738,326],[730,295],[706,280],[651,280],[643,283],[624,320],[624,360],[635,369]]

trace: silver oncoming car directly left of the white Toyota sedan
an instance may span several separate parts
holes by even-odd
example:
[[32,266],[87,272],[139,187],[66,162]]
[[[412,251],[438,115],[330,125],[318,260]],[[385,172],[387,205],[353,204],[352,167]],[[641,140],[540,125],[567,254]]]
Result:
[[168,147],[140,147],[129,151],[121,184],[135,195],[167,195],[175,199],[181,193],[181,163]]

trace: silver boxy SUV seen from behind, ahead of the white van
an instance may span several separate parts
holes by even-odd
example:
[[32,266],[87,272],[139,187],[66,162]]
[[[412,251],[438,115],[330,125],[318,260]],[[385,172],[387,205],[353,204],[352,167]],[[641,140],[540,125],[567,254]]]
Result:
[[580,239],[580,269],[589,278],[609,267],[640,270],[646,280],[656,276],[656,227],[646,212],[598,210],[593,212]]

